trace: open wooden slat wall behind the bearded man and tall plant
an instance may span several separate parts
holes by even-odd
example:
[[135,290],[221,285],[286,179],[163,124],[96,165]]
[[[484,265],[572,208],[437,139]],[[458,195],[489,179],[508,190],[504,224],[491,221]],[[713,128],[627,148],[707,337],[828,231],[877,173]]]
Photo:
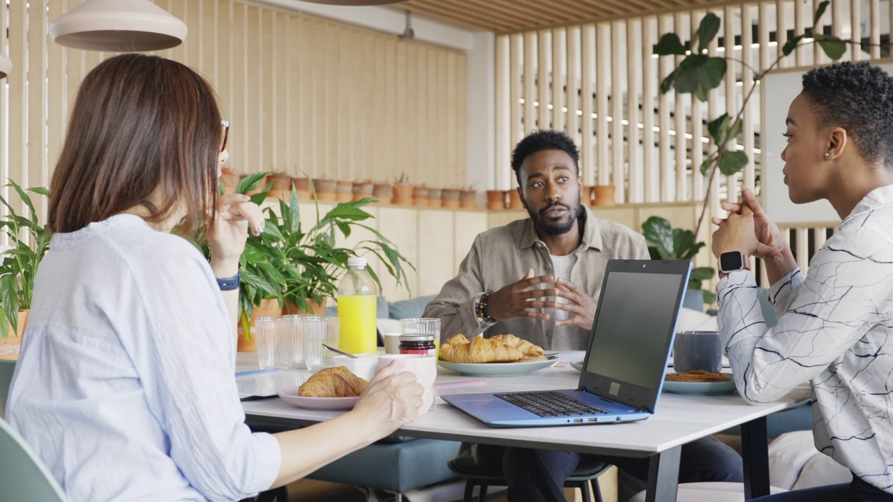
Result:
[[[850,31],[858,37],[862,11],[868,9],[871,22],[863,26],[869,32],[862,36],[879,44],[879,1],[834,2],[821,23],[830,25],[837,35]],[[497,80],[497,116],[505,113],[512,119],[497,122],[497,158],[508,158],[518,138],[531,130],[566,130],[580,146],[580,170],[585,184],[613,183],[617,186],[618,203],[672,203],[706,198],[709,222],[711,214],[723,214],[722,201],[737,200],[741,188],[755,188],[759,193],[762,151],[757,134],[764,137],[767,132],[759,112],[760,89],[753,80],[755,71],[762,71],[775,61],[787,40],[787,29],[801,33],[812,23],[818,4],[818,0],[806,4],[789,0],[725,4],[499,36],[497,46],[507,50],[497,53],[497,64],[508,65],[503,73],[509,79]],[[707,12],[723,20],[709,53],[731,58],[726,79],[720,88],[709,93],[704,104],[697,99],[692,101],[690,96],[676,96],[673,91],[660,95],[660,81],[675,64],[669,56],[653,56],[652,47],[668,31],[679,33],[683,42],[687,41]],[[893,10],[890,15],[893,16]],[[774,22],[770,21],[772,18]],[[755,35],[752,25],[759,28]],[[770,32],[778,32],[778,42],[770,41]],[[880,46],[866,53],[853,45],[844,59],[879,56]],[[679,63],[679,58],[675,63]],[[827,63],[830,61],[821,50],[805,46],[780,66]],[[550,81],[566,83],[567,87],[544,87]],[[727,111],[738,113],[744,96],[754,86],[755,94],[743,113],[744,133],[731,143],[733,148],[747,153],[749,162],[744,172],[717,176],[714,189],[708,194],[707,180],[699,172],[701,162],[713,148],[706,123]],[[772,133],[777,129],[775,125]],[[498,173],[504,166],[494,169]],[[496,188],[509,188],[504,178],[497,175],[495,179]],[[702,224],[698,237],[709,239],[709,227]],[[798,259],[805,268],[808,246],[803,232],[807,230],[796,231],[800,233],[792,236],[797,238],[801,251]],[[700,257],[704,264],[710,262],[708,255],[705,250]]]

